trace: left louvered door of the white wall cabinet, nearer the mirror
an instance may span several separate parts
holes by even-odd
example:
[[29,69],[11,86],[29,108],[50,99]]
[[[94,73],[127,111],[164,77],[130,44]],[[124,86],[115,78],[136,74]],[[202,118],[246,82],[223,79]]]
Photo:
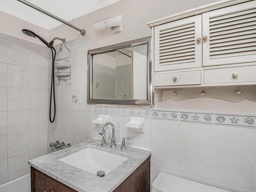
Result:
[[154,71],[202,67],[201,15],[154,28]]

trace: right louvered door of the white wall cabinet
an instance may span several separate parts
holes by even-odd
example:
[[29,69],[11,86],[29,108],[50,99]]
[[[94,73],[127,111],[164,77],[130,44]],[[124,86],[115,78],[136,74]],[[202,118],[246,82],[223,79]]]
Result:
[[256,1],[202,14],[203,66],[256,61]]

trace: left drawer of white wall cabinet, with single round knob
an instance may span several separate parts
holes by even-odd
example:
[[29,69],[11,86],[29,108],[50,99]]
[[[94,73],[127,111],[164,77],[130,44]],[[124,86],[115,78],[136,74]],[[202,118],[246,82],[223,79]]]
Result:
[[201,84],[201,70],[154,74],[154,86]]

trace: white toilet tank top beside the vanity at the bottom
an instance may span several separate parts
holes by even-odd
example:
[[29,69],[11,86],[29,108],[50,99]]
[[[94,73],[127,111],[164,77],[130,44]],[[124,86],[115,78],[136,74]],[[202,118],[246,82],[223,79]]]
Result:
[[160,172],[152,183],[151,192],[229,192]]

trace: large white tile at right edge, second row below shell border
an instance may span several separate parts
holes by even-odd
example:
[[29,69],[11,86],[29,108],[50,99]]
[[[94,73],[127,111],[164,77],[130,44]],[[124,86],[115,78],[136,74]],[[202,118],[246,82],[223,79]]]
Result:
[[215,144],[214,181],[254,189],[255,148]]

